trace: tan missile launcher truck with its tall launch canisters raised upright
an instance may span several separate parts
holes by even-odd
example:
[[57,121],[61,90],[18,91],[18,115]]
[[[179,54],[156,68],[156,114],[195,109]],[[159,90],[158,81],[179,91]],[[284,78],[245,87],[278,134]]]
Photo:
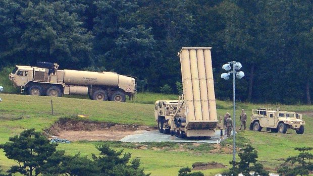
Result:
[[210,137],[218,124],[210,47],[183,47],[179,52],[183,96],[155,102],[160,133]]

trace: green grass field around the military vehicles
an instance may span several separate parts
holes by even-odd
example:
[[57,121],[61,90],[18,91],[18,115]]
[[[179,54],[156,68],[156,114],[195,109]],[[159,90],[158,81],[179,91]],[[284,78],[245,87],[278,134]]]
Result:
[[[144,93],[137,94],[134,103],[117,103],[111,101],[92,101],[88,99],[63,98],[63,97],[45,97],[45,96],[28,96],[14,94],[0,94],[3,99],[0,102],[0,143],[8,141],[10,136],[19,134],[25,129],[35,128],[38,131],[48,128],[59,118],[72,117],[77,114],[88,115],[90,121],[113,122],[118,124],[137,124],[156,126],[153,117],[154,105],[152,104],[158,99],[175,99],[177,95],[162,95]],[[51,100],[53,100],[54,113],[51,115]],[[237,124],[241,108],[245,108],[249,114],[252,108],[261,107],[281,107],[290,111],[310,111],[313,112],[313,106],[306,105],[271,105],[271,104],[248,104],[236,103]],[[227,111],[232,114],[232,102],[217,101],[218,115],[223,115]],[[281,158],[296,155],[295,147],[312,146],[313,125],[311,116],[304,115],[306,121],[305,132],[303,135],[297,135],[295,131],[288,130],[287,134],[277,134],[262,132],[243,131],[237,135],[238,147],[244,144],[251,144],[258,151],[258,160],[262,162],[266,168],[275,170],[283,161]],[[248,124],[247,124],[248,125]],[[80,152],[82,155],[91,156],[91,153],[97,153],[96,144],[102,142],[73,142],[71,144],[60,144],[58,149],[66,150],[68,154],[76,154]],[[232,139],[228,139],[223,145],[232,145]],[[112,143],[110,144],[116,149],[125,149],[125,152],[132,153],[132,157],[140,158],[141,166],[151,175],[177,175],[181,167],[189,166],[194,162],[211,162],[216,161],[225,165],[229,165],[232,160],[232,153],[210,153],[214,148],[212,145],[202,145],[201,148],[195,150],[193,146],[186,146],[183,150],[177,149],[175,144],[164,147],[164,144],[151,143],[152,147],[146,149],[134,148],[133,144]],[[14,161],[8,160],[4,153],[0,152],[1,168],[6,170]],[[205,175],[213,175],[219,173],[223,169],[203,170]]]

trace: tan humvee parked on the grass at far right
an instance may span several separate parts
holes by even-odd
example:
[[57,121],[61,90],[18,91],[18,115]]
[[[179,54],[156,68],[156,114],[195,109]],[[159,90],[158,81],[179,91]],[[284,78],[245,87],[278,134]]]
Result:
[[287,129],[293,129],[297,134],[303,134],[304,125],[302,114],[296,112],[271,108],[252,109],[250,130],[253,131],[266,128],[273,133],[286,133]]

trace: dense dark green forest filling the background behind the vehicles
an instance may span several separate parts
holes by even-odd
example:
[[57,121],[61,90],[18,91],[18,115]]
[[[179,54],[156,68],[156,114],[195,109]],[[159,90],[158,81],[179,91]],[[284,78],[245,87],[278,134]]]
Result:
[[237,61],[238,100],[311,103],[311,0],[0,0],[0,19],[0,68],[54,62],[177,93],[181,47],[212,47],[217,98],[232,99],[220,75]]

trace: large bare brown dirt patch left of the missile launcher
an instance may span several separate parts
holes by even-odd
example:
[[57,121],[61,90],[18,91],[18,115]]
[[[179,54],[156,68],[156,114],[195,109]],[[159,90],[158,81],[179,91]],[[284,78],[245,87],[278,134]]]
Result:
[[151,130],[154,128],[148,126],[61,119],[44,132],[46,136],[69,141],[119,141],[127,135]]

